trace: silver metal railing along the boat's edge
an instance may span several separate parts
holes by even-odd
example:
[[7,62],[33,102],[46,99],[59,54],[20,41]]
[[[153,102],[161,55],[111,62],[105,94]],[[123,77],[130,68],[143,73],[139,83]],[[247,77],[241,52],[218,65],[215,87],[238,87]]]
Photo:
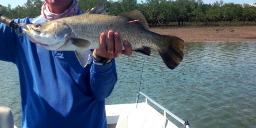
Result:
[[178,116],[176,116],[174,113],[170,112],[169,110],[167,110],[166,108],[164,108],[163,106],[161,106],[160,104],[158,104],[157,102],[155,102],[153,99],[151,99],[150,97],[148,97],[146,94],[140,92],[140,94],[142,94],[146,100],[145,102],[148,104],[148,100],[150,102],[152,102],[153,104],[155,104],[156,106],[158,106],[160,109],[162,109],[164,111],[163,116],[166,117],[166,113],[169,114],[170,116],[172,116],[174,119],[178,120],[178,122],[182,123],[185,128],[190,128],[190,125],[188,124],[188,121],[184,121],[181,118],[179,118]]

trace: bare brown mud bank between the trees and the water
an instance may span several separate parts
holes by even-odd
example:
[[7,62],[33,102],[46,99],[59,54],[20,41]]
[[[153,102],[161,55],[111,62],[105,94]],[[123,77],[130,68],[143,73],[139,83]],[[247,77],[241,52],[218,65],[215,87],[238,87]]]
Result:
[[256,26],[150,28],[150,30],[159,34],[178,36],[185,42],[256,42]]

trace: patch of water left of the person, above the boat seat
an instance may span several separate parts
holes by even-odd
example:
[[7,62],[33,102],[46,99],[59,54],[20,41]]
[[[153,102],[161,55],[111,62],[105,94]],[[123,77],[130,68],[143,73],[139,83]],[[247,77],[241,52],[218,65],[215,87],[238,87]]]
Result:
[[10,62],[0,61],[0,106],[12,109],[14,123],[20,127],[20,82],[16,65]]

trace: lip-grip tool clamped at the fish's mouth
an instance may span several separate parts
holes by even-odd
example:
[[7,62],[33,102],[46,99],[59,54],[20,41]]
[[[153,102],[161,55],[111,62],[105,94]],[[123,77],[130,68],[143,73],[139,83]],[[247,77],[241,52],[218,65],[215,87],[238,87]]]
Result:
[[22,27],[22,26],[26,28],[25,23],[17,24],[13,20],[11,20],[10,18],[7,18],[6,16],[2,15],[2,13],[0,13],[0,22],[2,22],[3,24],[5,24],[9,27],[14,28],[15,33],[19,36],[23,36],[23,35],[26,34],[25,32],[19,32],[19,30],[18,30],[18,28]]

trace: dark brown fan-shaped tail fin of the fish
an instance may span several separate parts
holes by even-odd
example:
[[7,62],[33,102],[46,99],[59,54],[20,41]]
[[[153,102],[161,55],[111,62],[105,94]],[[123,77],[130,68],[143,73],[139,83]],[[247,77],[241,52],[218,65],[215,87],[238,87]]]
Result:
[[162,60],[170,69],[174,69],[183,59],[184,41],[176,36],[167,36],[168,40],[158,49]]

